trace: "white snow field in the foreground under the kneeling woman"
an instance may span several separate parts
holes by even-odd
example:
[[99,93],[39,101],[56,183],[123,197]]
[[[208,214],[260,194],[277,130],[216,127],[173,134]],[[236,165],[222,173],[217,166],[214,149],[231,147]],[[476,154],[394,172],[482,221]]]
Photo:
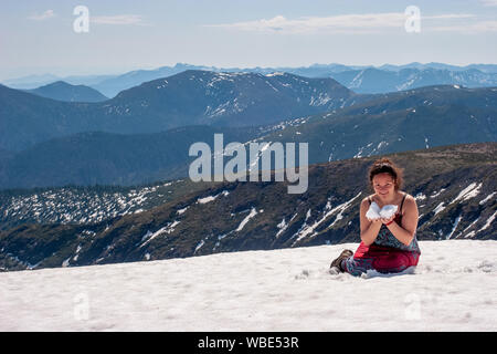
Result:
[[420,241],[404,274],[331,275],[358,243],[0,273],[0,331],[496,331],[497,241]]

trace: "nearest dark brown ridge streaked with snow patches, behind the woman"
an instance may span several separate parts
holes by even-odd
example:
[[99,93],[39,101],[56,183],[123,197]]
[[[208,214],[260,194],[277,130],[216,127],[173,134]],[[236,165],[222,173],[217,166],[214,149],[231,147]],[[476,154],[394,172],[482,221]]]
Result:
[[[483,143],[388,155],[404,168],[403,190],[417,201],[420,240],[496,239],[496,153],[497,143]],[[311,165],[309,187],[300,195],[287,194],[287,183],[274,178],[212,183],[119,217],[107,205],[108,198],[95,197],[93,207],[86,205],[84,212],[98,210],[98,221],[73,222],[68,217],[65,222],[24,222],[0,231],[0,267],[40,269],[357,242],[359,205],[371,194],[367,171],[374,158]],[[167,187],[172,191],[175,186],[184,188],[181,185],[177,180]],[[134,196],[141,197],[131,204],[141,200],[144,205],[145,197],[157,200],[152,195],[162,194],[166,185],[161,191],[158,185],[151,187],[135,189]],[[56,205],[52,201],[54,214],[70,214],[78,202],[77,198],[72,204],[60,199],[67,191],[45,190],[45,202],[57,200]],[[104,192],[108,190],[101,195]],[[24,191],[23,200],[3,216],[12,217],[19,210],[40,215],[38,192],[29,197]]]

